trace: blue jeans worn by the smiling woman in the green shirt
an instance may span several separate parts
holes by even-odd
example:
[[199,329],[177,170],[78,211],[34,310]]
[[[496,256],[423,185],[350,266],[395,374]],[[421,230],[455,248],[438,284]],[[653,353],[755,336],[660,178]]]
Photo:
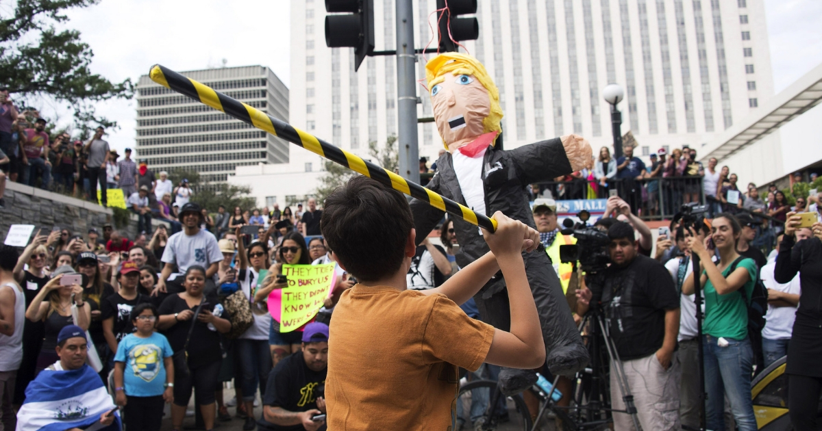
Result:
[[720,347],[717,337],[705,335],[705,391],[708,402],[705,418],[708,429],[725,430],[724,399],[731,403],[731,412],[740,431],[756,431],[754,405],[750,397],[750,375],[753,373],[754,351],[750,339],[726,338],[728,346]]

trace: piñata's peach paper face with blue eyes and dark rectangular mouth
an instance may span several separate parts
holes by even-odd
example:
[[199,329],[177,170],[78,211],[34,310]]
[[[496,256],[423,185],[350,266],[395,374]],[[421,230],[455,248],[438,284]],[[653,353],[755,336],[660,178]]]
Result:
[[451,75],[431,88],[436,128],[446,144],[483,134],[491,110],[488,91],[473,75]]

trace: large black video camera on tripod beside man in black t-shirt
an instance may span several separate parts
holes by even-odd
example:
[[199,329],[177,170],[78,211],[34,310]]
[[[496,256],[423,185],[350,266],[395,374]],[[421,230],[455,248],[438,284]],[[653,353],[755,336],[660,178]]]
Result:
[[588,220],[591,218],[588,211],[582,210],[576,216],[582,222],[573,224],[570,218],[562,222],[562,225],[566,227],[561,230],[562,235],[573,235],[576,238],[576,244],[560,245],[560,260],[563,264],[574,264],[579,261],[580,268],[586,273],[602,271],[611,262],[607,249],[611,240],[606,232],[588,226]]

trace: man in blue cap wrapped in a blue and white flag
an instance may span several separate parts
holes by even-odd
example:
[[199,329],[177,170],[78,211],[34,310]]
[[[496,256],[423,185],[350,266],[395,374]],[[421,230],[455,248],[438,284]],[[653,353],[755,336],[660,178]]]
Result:
[[118,431],[120,417],[103,381],[85,364],[85,331],[67,325],[57,336],[60,360],[48,366],[25,389],[17,413],[17,431],[95,429]]

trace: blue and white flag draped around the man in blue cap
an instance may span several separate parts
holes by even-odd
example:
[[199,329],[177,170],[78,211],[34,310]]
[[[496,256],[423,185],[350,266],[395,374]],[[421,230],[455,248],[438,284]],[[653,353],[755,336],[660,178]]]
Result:
[[90,366],[72,371],[44,369],[25,388],[16,431],[118,431],[122,427],[116,412],[111,425],[99,422],[100,415],[113,408],[103,381]]

